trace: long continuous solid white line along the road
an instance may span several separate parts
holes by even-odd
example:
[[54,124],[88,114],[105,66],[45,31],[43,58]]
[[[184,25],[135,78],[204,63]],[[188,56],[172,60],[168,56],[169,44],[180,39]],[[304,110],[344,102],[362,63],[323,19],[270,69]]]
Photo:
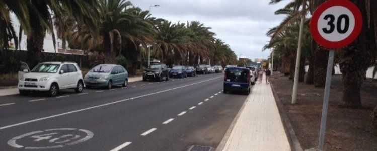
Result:
[[189,84],[189,85],[184,85],[184,86],[180,86],[180,87],[176,87],[176,88],[171,88],[171,89],[167,89],[167,90],[163,90],[163,91],[149,93],[149,94],[145,94],[145,95],[141,95],[141,96],[137,96],[137,97],[133,97],[133,98],[128,98],[128,99],[123,99],[123,100],[119,100],[119,101],[115,101],[115,102],[110,102],[110,103],[106,103],[106,104],[92,106],[92,107],[88,107],[88,108],[84,108],[84,109],[80,109],[80,110],[73,110],[73,111],[70,111],[70,112],[55,114],[55,115],[46,116],[46,117],[42,117],[42,118],[37,118],[37,119],[33,119],[33,120],[21,122],[21,123],[16,123],[16,124],[12,124],[12,125],[8,125],[8,126],[0,127],[0,130],[6,129],[6,128],[10,128],[10,127],[19,126],[19,125],[23,125],[23,124],[27,124],[27,123],[32,123],[32,122],[36,122],[36,121],[41,121],[41,120],[45,120],[45,119],[50,119],[50,118],[54,118],[54,117],[58,117],[58,116],[63,116],[63,115],[67,115],[67,114],[72,114],[72,113],[82,112],[82,111],[86,111],[86,110],[90,110],[90,109],[94,109],[94,108],[108,106],[108,105],[111,105],[111,104],[116,104],[116,103],[120,103],[120,102],[124,102],[124,101],[128,101],[128,100],[133,100],[133,99],[137,99],[137,98],[141,98],[141,97],[155,95],[155,94],[159,94],[159,93],[163,93],[163,92],[167,92],[167,91],[172,91],[172,90],[175,90],[175,89],[181,89],[181,88],[185,88],[185,87],[188,87],[188,86],[192,86],[192,85],[204,83],[204,82],[211,81],[211,80],[218,79],[218,78],[221,78],[221,77],[216,77],[216,78],[212,78],[212,79],[208,79],[208,80],[204,80],[204,81],[192,83],[192,84]]

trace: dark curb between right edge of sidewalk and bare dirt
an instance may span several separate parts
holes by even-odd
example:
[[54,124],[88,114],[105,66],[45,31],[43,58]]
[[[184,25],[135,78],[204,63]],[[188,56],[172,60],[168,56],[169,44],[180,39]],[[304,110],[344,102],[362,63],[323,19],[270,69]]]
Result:
[[274,94],[275,102],[279,110],[281,123],[283,124],[285,134],[287,135],[290,148],[295,151],[303,151],[300,142],[297,139],[296,134],[294,133],[292,124],[290,124],[287,114],[284,112],[283,104],[281,103],[279,97],[276,94],[275,88],[270,81],[272,93]]

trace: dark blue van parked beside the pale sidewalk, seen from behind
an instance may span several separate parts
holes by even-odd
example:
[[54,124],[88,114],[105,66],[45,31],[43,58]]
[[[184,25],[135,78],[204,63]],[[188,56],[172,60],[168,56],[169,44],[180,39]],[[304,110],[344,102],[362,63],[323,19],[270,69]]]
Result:
[[250,93],[250,69],[243,67],[229,67],[225,70],[224,93],[241,91]]

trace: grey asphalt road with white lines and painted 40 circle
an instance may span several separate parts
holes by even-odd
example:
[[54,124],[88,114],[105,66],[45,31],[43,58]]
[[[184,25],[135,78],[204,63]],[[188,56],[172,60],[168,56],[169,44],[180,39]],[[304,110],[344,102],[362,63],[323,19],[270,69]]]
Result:
[[216,73],[57,97],[0,97],[0,150],[217,147],[247,97],[223,94],[222,81]]

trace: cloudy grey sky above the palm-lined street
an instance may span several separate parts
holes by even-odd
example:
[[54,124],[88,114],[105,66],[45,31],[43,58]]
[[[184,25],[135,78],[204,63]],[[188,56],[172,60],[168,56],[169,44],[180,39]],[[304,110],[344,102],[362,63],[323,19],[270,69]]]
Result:
[[148,10],[152,15],[172,22],[199,21],[212,27],[216,38],[230,45],[239,57],[240,54],[252,60],[267,58],[269,50],[262,47],[269,38],[268,29],[278,25],[284,16],[274,15],[289,1],[269,5],[270,0],[136,0],[136,7]]

